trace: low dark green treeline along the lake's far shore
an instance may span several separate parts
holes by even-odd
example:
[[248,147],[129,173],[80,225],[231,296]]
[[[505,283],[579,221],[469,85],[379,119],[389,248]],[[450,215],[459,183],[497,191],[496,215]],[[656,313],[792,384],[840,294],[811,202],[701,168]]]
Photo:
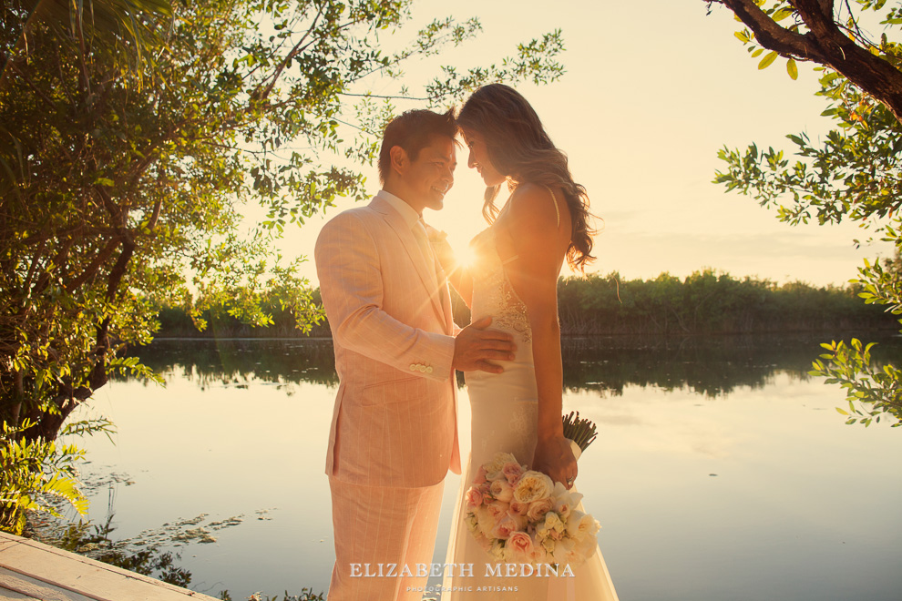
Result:
[[[619,274],[561,278],[558,311],[564,335],[689,335],[803,331],[897,330],[897,318],[886,307],[867,305],[861,288],[815,287],[804,282],[776,284],[753,277],[737,279],[714,270],[686,278],[662,273],[653,280],[621,280]],[[453,299],[455,321],[466,325],[469,310]],[[319,290],[314,294],[319,301]],[[187,311],[165,307],[159,313],[158,337],[303,338],[329,337],[322,323],[304,335],[279,299],[267,302],[272,325],[251,327],[228,314],[226,307],[205,311],[208,323],[198,331]]]

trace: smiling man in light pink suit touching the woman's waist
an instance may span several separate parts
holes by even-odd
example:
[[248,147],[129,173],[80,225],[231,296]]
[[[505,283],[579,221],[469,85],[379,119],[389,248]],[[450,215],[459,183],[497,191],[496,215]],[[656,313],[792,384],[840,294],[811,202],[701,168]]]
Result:
[[422,598],[418,565],[432,561],[445,475],[460,473],[455,370],[500,372],[490,361],[513,358],[489,320],[456,328],[425,233],[423,209],[442,209],[454,183],[455,135],[453,110],[396,117],[379,155],[383,189],[316,241],[340,380],[326,455],[329,601]]

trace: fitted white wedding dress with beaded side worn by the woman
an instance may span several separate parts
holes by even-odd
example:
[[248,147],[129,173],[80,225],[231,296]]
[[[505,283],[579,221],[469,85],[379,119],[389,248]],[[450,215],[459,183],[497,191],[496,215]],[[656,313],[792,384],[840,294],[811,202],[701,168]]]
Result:
[[[517,352],[513,362],[504,363],[503,373],[466,372],[472,409],[472,447],[457,494],[446,556],[446,564],[455,564],[457,569],[453,576],[446,569],[441,601],[616,601],[617,594],[598,547],[584,564],[573,568],[573,577],[487,576],[486,565],[495,566],[497,560],[466,529],[464,494],[477,469],[499,451],[514,453],[519,463],[531,463],[538,418],[536,370],[526,306],[505,272],[505,265],[517,258],[500,259],[494,228],[478,234],[471,248],[476,257],[472,269],[472,321],[490,315],[490,327],[510,332]],[[581,504],[577,508],[585,511]],[[472,564],[472,574],[469,571],[461,574],[461,564]]]

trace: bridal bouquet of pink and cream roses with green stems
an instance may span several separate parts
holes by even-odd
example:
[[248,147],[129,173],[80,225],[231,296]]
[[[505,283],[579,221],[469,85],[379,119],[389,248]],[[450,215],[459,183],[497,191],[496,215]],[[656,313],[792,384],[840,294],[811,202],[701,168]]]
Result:
[[[579,457],[594,438],[595,426],[572,413],[564,423]],[[601,527],[576,509],[580,499],[582,494],[571,493],[548,475],[527,470],[513,454],[497,453],[479,467],[466,491],[464,519],[470,534],[498,561],[575,567],[595,553]]]

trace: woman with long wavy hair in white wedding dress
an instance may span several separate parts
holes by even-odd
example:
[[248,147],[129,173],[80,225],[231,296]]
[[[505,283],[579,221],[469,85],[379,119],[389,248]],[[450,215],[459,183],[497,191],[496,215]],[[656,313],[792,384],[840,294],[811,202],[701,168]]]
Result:
[[[594,258],[586,189],[570,176],[536,112],[511,87],[479,88],[461,108],[458,127],[469,148],[467,166],[486,182],[483,215],[490,227],[470,243],[476,256],[456,268],[446,243],[438,254],[449,280],[472,311],[473,321],[514,335],[517,353],[504,372],[468,372],[472,449],[457,496],[446,564],[472,564],[471,573],[447,576],[442,600],[517,599],[599,601],[617,599],[600,551],[568,576],[487,576],[488,555],[464,524],[464,493],[495,453],[571,488],[577,462],[561,425],[562,368],[558,275],[566,259],[584,269]],[[502,209],[495,199],[507,183]],[[581,509],[581,507],[579,508]]]

